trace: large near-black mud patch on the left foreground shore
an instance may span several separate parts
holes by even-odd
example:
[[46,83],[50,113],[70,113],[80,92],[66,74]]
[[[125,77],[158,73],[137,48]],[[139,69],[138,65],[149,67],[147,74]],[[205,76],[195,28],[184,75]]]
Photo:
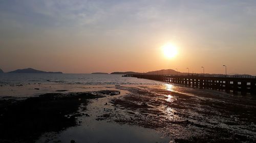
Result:
[[29,98],[0,100],[0,142],[34,142],[42,133],[58,132],[76,126],[78,112],[88,99],[116,95],[118,91],[48,93]]

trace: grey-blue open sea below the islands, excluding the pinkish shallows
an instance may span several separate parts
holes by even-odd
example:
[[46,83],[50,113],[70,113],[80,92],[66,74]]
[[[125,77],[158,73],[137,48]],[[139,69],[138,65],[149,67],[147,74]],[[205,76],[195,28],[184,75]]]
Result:
[[83,85],[109,85],[109,84],[159,84],[157,81],[127,78],[113,74],[40,74],[40,73],[8,73],[0,74],[0,85],[6,84],[83,84]]

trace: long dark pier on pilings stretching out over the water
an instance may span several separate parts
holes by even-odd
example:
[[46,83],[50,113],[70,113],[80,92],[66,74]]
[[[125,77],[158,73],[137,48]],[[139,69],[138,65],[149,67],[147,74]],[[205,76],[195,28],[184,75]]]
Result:
[[146,75],[131,74],[127,77],[145,78],[170,83],[187,85],[188,87],[232,92],[234,95],[256,94],[256,76],[232,75]]

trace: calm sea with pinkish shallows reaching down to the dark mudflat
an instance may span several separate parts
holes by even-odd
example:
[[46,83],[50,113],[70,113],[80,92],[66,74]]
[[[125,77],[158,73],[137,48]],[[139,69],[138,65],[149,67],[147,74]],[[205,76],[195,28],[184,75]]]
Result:
[[0,97],[28,97],[45,93],[86,92],[118,85],[160,85],[163,82],[113,74],[0,74]]

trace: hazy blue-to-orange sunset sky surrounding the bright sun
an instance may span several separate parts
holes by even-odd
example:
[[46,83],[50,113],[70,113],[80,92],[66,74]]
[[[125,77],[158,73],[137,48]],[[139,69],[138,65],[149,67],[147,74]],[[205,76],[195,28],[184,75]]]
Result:
[[255,17],[256,1],[0,0],[0,68],[256,75]]

